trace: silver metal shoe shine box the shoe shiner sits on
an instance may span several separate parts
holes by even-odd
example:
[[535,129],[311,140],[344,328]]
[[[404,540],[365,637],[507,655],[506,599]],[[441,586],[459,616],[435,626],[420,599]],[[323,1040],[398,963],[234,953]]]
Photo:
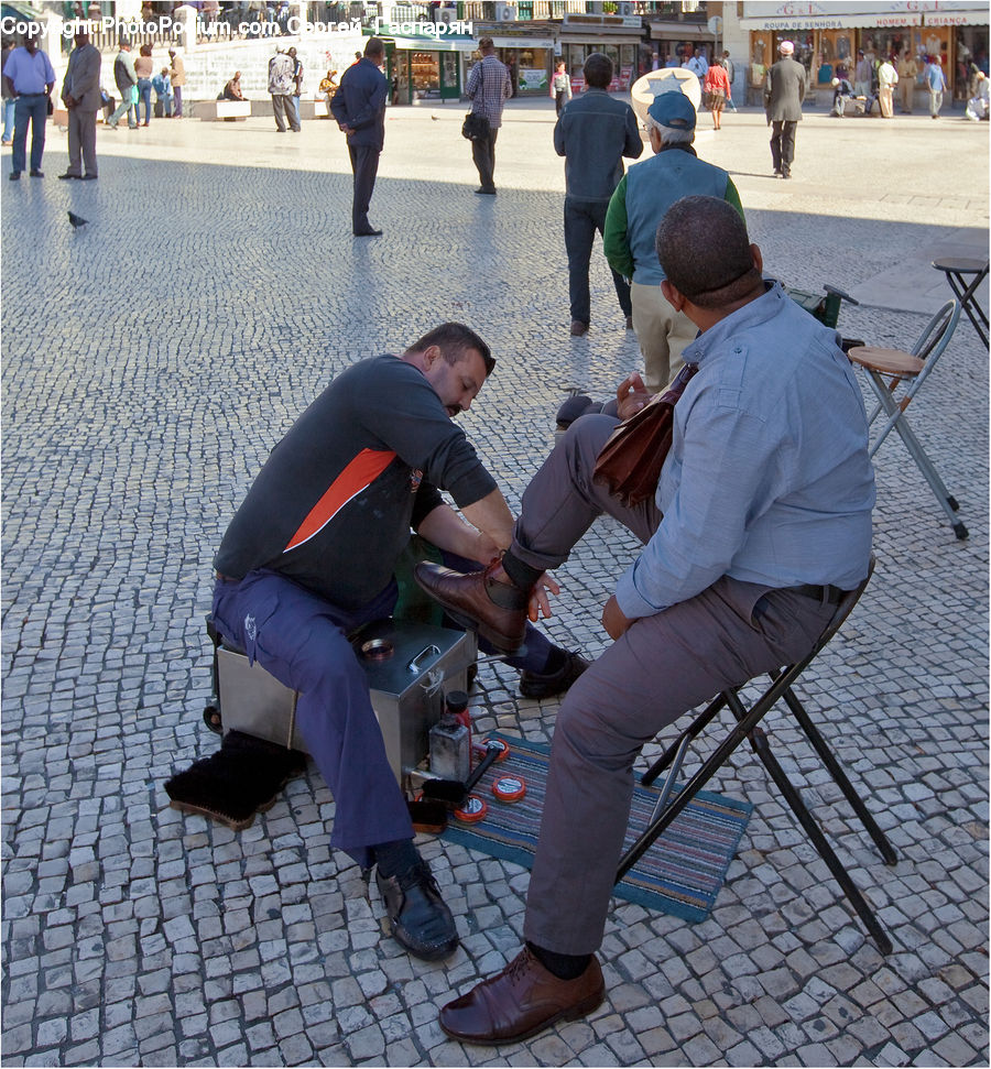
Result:
[[[467,690],[475,663],[473,634],[406,620],[374,620],[351,637],[368,676],[372,709],[400,786],[427,756],[429,730],[440,719],[444,695]],[[243,731],[306,751],[296,727],[297,695],[248,664],[242,653],[217,651],[217,696],[225,731]]]

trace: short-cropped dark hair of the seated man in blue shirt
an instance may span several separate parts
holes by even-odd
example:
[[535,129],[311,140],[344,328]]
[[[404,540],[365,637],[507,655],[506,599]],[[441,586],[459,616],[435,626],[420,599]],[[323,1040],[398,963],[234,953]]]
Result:
[[657,259],[667,281],[693,304],[732,304],[760,281],[747,225],[718,197],[682,197],[657,227]]

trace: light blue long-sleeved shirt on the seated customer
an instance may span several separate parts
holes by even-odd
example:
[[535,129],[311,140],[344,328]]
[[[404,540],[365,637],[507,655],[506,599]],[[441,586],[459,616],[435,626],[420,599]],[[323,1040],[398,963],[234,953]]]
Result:
[[836,334],[774,283],[685,350],[698,374],[675,406],[657,484],[664,519],[620,578],[630,618],[721,576],[852,589],[871,552],[867,414]]

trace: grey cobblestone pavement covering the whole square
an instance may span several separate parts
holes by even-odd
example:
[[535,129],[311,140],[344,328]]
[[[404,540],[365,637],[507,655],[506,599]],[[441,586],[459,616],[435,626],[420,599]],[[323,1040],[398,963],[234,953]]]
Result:
[[[591,330],[568,336],[548,102],[511,106],[498,198],[472,195],[461,110],[390,113],[372,241],[348,232],[330,123],[101,132],[86,184],[54,181],[53,130],[43,182],[0,181],[4,1063],[987,1065],[988,353],[966,320],[911,416],[970,538],[892,436],[876,574],[803,687],[896,865],[769,719],[889,957],[741,751],[715,786],[755,810],[710,918],[617,904],[598,1012],[461,1047],[437,1006],[515,952],[524,870],[425,838],[462,936],[426,964],[331,854],[314,771],[240,835],[167,808],[164,781],[216,746],[200,721],[211,555],[330,375],[446,318],[480,329],[499,367],[465,423],[515,506],[565,391],[605,396],[639,362],[598,253]],[[792,285],[870,294],[948,233],[987,240],[987,127],[812,116],[785,186],[760,114],[728,116],[718,140],[707,122],[700,154],[733,171],[767,270]],[[74,233],[67,209],[88,226]],[[861,306],[840,326],[905,346],[924,323]],[[601,651],[600,607],[633,552],[614,524],[592,528],[562,569],[554,639]],[[558,702],[486,666],[472,706],[481,729],[547,740]]]

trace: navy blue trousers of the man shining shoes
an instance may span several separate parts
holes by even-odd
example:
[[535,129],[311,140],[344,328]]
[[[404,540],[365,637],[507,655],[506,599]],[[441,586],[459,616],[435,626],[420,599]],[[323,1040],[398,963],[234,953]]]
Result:
[[214,621],[281,684],[300,692],[296,722],[336,805],[330,844],[362,868],[370,847],[413,838],[372,710],[364,669],[347,632],[388,617],[391,585],[374,601],[348,612],[272,571],[240,581],[218,579]]

